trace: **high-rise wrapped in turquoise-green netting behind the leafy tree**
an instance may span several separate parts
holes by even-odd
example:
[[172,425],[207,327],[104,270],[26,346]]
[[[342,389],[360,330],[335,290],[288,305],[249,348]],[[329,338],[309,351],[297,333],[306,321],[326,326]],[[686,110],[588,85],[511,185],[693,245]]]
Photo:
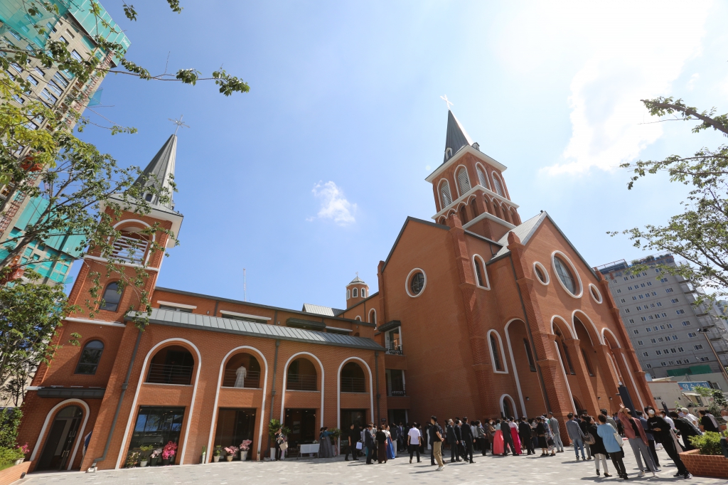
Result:
[[[129,39],[106,10],[102,8],[98,17],[94,15],[90,0],[52,0],[51,3],[58,7],[58,12],[45,9],[42,2],[36,2],[33,7],[38,13],[32,16],[26,3],[23,0],[0,2],[0,45],[32,51],[44,49],[50,40],[60,41],[66,44],[68,52],[77,60],[91,56],[98,58],[99,70],[86,82],[81,82],[70,72],[45,68],[33,58],[26,66],[12,63],[0,76],[10,79],[20,76],[27,79],[33,88],[27,95],[15,96],[7,102],[23,105],[29,100],[41,100],[64,113],[66,123],[72,127],[76,118],[71,114],[82,113],[89,106],[98,92],[106,72],[104,69],[115,67],[119,62],[114,52],[98,47],[95,37],[100,35],[108,41],[116,42],[124,51],[130,45]],[[0,52],[0,55],[5,53]],[[26,126],[41,130],[46,124],[47,120],[42,119],[30,121]],[[19,157],[24,155],[25,150],[18,153]],[[39,181],[39,173],[29,173],[28,176],[31,180]],[[39,217],[39,213],[48,203],[40,197],[31,199],[12,189],[12,184],[0,186],[0,258],[7,255],[7,248],[2,243],[22,234],[25,227]],[[31,267],[44,277],[44,283],[63,283],[75,256],[78,256],[76,248],[82,242],[81,237],[66,234],[58,234],[45,241],[34,241],[23,252],[20,262],[27,264],[33,260],[39,261],[39,264],[31,264]],[[12,247],[12,242],[9,245]],[[56,257],[60,260],[55,263],[47,261]]]

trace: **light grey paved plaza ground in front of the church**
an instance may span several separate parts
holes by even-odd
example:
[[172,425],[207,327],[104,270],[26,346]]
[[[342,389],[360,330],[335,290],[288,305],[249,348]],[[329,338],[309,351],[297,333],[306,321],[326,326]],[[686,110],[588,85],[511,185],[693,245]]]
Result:
[[[662,471],[657,478],[637,478],[638,469],[632,450],[625,447],[625,465],[630,476],[628,482],[669,483],[684,482],[686,485],[725,484],[724,480],[693,477],[690,480],[673,478],[676,468],[665,452],[660,454]],[[449,457],[449,452],[447,452]],[[669,464],[669,466],[668,466]],[[97,473],[62,472],[31,474],[16,484],[23,485],[328,485],[328,484],[443,484],[460,485],[497,483],[501,485],[528,484],[566,485],[585,482],[617,483],[619,478],[597,477],[594,462],[575,461],[571,450],[556,457],[539,455],[521,457],[475,457],[475,464],[446,463],[445,470],[435,471],[430,466],[430,456],[422,463],[409,464],[409,457],[400,454],[386,464],[365,465],[363,461],[345,462],[343,457],[322,460],[286,459],[281,462],[220,462],[208,465],[134,468],[132,470],[100,471]],[[614,472],[612,462],[609,471]]]

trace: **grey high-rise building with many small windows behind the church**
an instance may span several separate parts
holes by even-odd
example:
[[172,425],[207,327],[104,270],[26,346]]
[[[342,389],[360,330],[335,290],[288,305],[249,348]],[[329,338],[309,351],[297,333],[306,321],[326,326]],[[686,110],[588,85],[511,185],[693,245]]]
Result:
[[642,369],[652,377],[724,372],[728,331],[712,306],[695,304],[703,290],[654,267],[674,266],[671,254],[633,263],[646,263],[649,269],[633,271],[625,260],[598,269],[609,281]]

